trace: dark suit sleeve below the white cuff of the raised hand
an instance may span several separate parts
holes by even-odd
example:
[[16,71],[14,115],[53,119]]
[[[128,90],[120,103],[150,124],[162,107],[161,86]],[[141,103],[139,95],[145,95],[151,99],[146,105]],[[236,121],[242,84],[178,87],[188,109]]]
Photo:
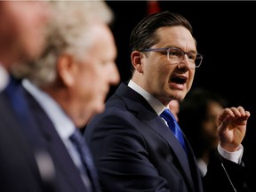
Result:
[[252,178],[252,164],[243,157],[243,164],[236,164],[212,153],[207,173],[204,176],[205,192],[251,192],[256,191]]

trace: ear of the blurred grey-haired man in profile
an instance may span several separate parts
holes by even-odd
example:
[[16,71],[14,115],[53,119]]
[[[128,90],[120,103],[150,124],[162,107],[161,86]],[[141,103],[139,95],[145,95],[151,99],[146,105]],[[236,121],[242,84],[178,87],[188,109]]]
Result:
[[75,84],[76,62],[68,54],[63,54],[57,60],[57,71],[63,84]]

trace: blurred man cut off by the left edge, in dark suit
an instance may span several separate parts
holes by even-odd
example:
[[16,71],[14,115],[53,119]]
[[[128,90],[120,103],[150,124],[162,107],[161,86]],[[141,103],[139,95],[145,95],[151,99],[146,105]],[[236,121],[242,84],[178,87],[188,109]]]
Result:
[[33,139],[20,81],[10,74],[14,63],[41,54],[50,17],[47,2],[0,1],[0,191],[53,189],[51,158]]

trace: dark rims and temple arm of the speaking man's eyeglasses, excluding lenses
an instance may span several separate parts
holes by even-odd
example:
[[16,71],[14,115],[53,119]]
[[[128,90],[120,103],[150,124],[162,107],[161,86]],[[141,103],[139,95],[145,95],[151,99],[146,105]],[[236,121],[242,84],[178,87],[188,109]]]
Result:
[[[164,48],[148,48],[148,49],[142,49],[142,50],[139,50],[139,52],[159,52],[159,53],[161,53],[161,52],[166,52],[167,54],[166,54],[166,56],[167,56],[167,60],[170,60],[170,57],[169,57],[169,54],[170,54],[170,50],[172,50],[172,49],[175,49],[175,50],[178,50],[178,51],[180,51],[180,52],[182,52],[182,57],[180,57],[180,61],[181,60],[184,60],[184,56],[185,56],[185,54],[188,56],[188,54],[190,53],[190,52],[184,52],[183,50],[181,50],[179,47],[174,47],[174,46],[172,46],[172,47],[164,47]],[[201,64],[202,64],[202,61],[203,61],[203,55],[202,54],[199,54],[198,52],[195,52],[196,53],[196,57],[195,57],[195,60],[196,59],[200,59],[200,62],[199,62],[199,64],[196,66],[196,62],[195,62],[195,60],[193,60],[193,65],[194,65],[194,68],[199,68],[200,66],[201,66]],[[163,53],[162,53],[163,54]],[[189,57],[188,57],[188,60],[189,60]],[[180,61],[178,62],[178,63],[173,63],[173,65],[175,65],[175,64],[179,64],[180,63]],[[190,60],[189,60],[190,61]],[[189,62],[190,63],[190,62]]]

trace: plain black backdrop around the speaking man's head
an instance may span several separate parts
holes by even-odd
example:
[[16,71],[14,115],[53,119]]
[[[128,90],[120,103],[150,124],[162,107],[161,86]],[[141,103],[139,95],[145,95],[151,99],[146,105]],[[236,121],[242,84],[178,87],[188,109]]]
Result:
[[[129,37],[132,28],[147,15],[147,1],[107,1],[115,12],[112,26],[121,81],[131,76]],[[253,157],[256,145],[254,83],[256,66],[256,2],[253,1],[160,1],[162,11],[185,16],[194,28],[197,51],[204,55],[192,87],[203,87],[251,112],[244,152]],[[112,87],[110,96],[116,87]],[[254,157],[253,157],[254,158]],[[255,160],[255,159],[253,159]],[[255,161],[256,162],[256,161]]]

